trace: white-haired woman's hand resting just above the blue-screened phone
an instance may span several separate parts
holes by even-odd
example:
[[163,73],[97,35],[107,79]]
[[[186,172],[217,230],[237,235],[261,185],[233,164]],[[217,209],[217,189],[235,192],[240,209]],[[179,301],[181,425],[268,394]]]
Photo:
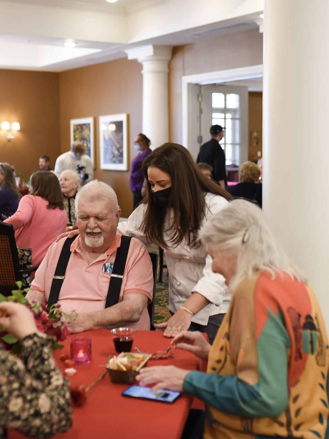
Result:
[[179,367],[175,366],[143,367],[136,376],[136,380],[139,381],[139,385],[142,386],[157,383],[152,387],[152,392],[156,392],[159,389],[178,390],[182,392],[183,381],[189,373],[190,371],[179,369]]

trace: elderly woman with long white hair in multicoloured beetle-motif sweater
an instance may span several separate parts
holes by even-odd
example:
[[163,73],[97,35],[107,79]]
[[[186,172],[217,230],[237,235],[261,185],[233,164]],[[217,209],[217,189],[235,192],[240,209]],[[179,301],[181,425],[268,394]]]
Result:
[[328,337],[304,275],[250,202],[229,203],[199,237],[232,302],[212,346],[187,331],[172,344],[207,359],[207,373],[146,367],[139,384],[202,399],[204,438],[328,437]]

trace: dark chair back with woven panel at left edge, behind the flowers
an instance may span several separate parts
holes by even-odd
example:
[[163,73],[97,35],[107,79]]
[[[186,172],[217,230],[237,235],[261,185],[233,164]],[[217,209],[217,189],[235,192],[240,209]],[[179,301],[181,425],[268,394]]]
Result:
[[11,290],[17,289],[16,281],[21,281],[21,274],[14,229],[0,221],[0,293],[11,295]]

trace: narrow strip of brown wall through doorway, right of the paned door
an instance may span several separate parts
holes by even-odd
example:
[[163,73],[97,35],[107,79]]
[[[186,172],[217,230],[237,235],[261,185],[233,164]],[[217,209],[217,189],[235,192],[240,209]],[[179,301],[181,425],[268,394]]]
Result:
[[[262,155],[262,136],[263,136],[263,94],[261,92],[249,92],[249,127],[248,127],[248,159],[252,162],[258,160],[257,152]],[[259,133],[257,145],[251,141],[251,132]]]

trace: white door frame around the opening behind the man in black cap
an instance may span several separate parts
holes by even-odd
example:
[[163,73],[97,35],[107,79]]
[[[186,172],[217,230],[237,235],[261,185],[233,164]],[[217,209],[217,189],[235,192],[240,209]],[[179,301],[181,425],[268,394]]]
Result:
[[[197,134],[195,133],[196,120],[192,114],[192,99],[195,99],[196,85],[218,84],[228,81],[238,81],[240,79],[260,78],[263,76],[263,65],[249,65],[247,67],[230,68],[228,70],[218,70],[217,72],[198,73],[196,75],[186,75],[182,77],[182,144],[191,149],[195,143]],[[195,107],[195,106],[194,106]]]

